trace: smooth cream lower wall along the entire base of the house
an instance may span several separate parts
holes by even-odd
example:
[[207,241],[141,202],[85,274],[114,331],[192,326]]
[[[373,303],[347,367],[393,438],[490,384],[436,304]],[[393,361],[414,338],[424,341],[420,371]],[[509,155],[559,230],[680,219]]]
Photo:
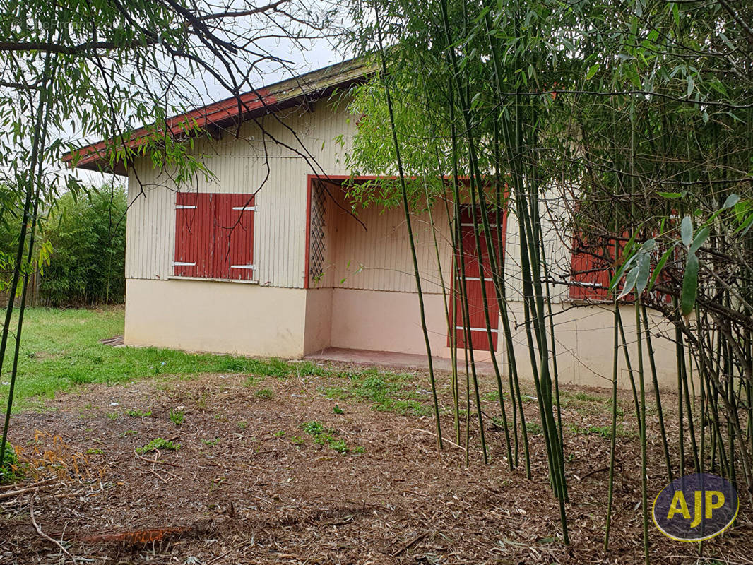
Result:
[[[441,295],[425,295],[429,341],[434,356],[449,358],[447,321]],[[523,304],[511,302],[513,323],[523,322]],[[614,314],[611,307],[567,309],[555,304],[556,353],[563,383],[611,386]],[[637,365],[634,310],[622,307],[633,367]],[[674,388],[675,350],[671,328],[651,319],[657,373],[662,388]],[[501,327],[501,325],[500,325]],[[248,356],[300,358],[326,347],[392,351],[424,356],[418,295],[415,292],[353,289],[278,289],[239,282],[128,279],[126,344],[211,351]],[[526,334],[513,336],[520,377],[532,378]],[[505,341],[497,359],[507,371]],[[489,353],[474,352],[480,362]],[[644,341],[645,375],[651,385]],[[620,359],[620,388],[630,375]]]

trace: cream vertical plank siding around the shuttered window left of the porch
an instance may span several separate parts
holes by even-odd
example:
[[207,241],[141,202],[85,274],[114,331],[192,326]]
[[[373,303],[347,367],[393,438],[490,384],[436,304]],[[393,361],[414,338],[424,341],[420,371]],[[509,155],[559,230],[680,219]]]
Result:
[[[287,127],[282,125],[283,122]],[[257,124],[246,123],[219,141],[197,139],[193,154],[215,177],[198,175],[181,192],[252,194],[255,198],[255,277],[261,285],[302,289],[306,257],[306,176],[344,175],[343,148],[337,136],[352,136],[344,105],[316,103],[315,111],[291,108],[260,119],[275,139]],[[303,145],[301,145],[301,142]],[[304,147],[305,145],[305,147]],[[174,276],[175,203],[178,187],[169,172],[154,170],[140,159],[129,171],[126,276],[167,279]]]

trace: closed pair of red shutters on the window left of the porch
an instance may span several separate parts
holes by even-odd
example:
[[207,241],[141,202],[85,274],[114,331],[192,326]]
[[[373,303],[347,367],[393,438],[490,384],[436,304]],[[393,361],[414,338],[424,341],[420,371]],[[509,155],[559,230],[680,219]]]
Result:
[[174,276],[253,280],[254,196],[178,193]]

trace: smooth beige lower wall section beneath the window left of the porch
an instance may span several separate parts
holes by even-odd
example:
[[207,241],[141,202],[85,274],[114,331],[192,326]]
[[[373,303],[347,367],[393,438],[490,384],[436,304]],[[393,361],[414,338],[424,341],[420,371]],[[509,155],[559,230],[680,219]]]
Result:
[[242,282],[128,279],[128,345],[300,357],[306,291]]

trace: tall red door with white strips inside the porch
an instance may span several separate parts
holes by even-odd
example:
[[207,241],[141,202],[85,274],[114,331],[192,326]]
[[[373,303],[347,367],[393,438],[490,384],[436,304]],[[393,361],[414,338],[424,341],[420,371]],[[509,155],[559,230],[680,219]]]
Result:
[[[499,305],[492,279],[492,269],[489,265],[489,252],[486,246],[486,236],[481,227],[480,207],[476,207],[476,222],[479,230],[481,253],[480,257],[476,247],[474,236],[474,223],[471,215],[471,207],[464,206],[460,215],[460,233],[462,237],[462,255],[459,249],[455,250],[455,261],[459,273],[462,273],[461,261],[465,264],[465,292],[468,293],[468,330],[471,336],[471,348],[474,350],[489,351],[490,348],[497,350]],[[495,229],[496,210],[489,209],[489,224],[492,224],[492,243],[496,248],[495,257],[497,262],[504,258],[505,231],[507,213],[503,212],[501,218],[501,234]],[[481,274],[483,273],[483,286],[486,287],[486,301],[481,292]],[[457,278],[453,276],[452,296],[450,304],[450,319],[455,328],[455,338],[458,347],[465,345],[465,324],[463,323],[463,310],[461,289],[458,288]],[[484,310],[489,313],[489,328],[492,329],[492,343],[489,344],[489,335],[486,332],[486,316]],[[447,345],[450,346],[450,337],[447,337]]]

